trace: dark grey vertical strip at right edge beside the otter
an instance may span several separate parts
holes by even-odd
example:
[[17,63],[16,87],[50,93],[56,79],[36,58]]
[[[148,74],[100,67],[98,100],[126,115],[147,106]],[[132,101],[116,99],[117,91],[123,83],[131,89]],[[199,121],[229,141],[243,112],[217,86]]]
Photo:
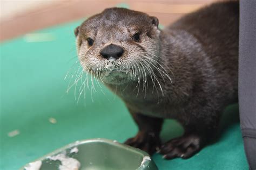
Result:
[[239,110],[245,153],[256,169],[256,1],[240,1]]

